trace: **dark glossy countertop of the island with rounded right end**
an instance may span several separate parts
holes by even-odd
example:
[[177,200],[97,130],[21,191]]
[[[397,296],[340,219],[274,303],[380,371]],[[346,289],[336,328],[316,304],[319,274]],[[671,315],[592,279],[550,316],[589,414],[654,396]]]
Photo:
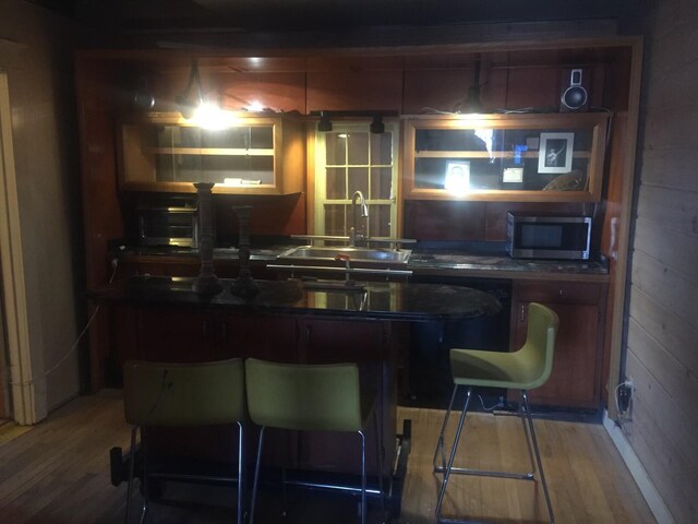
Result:
[[[388,320],[461,320],[495,314],[502,306],[492,295],[464,286],[441,284],[365,283],[362,289],[311,289],[304,283],[256,281],[260,293],[250,299],[224,290],[203,297],[192,290],[194,278],[134,276],[89,293],[95,300],[153,306],[226,309],[274,314],[322,314]],[[330,285],[337,285],[333,282]]]

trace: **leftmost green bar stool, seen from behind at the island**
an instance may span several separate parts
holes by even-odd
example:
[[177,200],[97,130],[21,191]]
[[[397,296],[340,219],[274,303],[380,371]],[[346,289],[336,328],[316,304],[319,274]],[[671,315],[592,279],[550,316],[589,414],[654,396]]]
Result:
[[[127,491],[127,516],[131,517],[136,431],[141,430],[143,456],[143,508],[141,523],[148,511],[148,477],[158,475],[148,471],[147,427],[195,427],[209,425],[238,425],[238,524],[242,524],[244,367],[239,358],[201,364],[161,364],[128,361],[123,366],[123,404],[131,430],[131,460]],[[212,480],[210,476],[172,475],[180,480]],[[228,477],[218,478],[228,480]]]

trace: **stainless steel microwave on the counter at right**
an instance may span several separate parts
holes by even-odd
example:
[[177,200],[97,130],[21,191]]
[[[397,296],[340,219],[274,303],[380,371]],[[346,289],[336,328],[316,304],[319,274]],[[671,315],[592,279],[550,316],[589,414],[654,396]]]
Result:
[[591,217],[508,212],[506,236],[514,259],[589,260]]

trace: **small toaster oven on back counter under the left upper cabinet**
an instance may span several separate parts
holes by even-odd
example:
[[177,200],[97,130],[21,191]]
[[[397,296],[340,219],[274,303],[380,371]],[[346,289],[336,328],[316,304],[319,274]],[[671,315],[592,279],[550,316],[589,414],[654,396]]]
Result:
[[173,200],[139,206],[140,246],[198,247],[198,219],[195,202]]

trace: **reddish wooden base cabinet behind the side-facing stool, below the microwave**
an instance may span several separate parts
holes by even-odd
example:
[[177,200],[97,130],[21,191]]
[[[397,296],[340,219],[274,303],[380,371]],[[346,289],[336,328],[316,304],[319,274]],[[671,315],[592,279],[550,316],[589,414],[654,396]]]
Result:
[[[599,407],[605,295],[603,283],[514,282],[513,350],[526,341],[530,302],[543,303],[559,317],[553,371],[543,386],[530,391],[532,404]],[[510,398],[518,402],[519,397]]]

